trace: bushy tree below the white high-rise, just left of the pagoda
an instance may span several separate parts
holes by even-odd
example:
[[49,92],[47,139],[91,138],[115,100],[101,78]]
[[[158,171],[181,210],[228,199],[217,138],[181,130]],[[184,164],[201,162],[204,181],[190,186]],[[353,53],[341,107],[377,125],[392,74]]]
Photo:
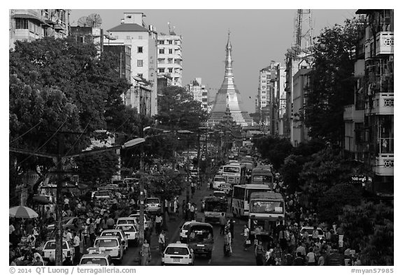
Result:
[[159,91],[163,100],[158,102],[157,120],[166,129],[188,129],[195,131],[201,122],[207,120],[207,113],[201,109],[199,101],[183,87],[163,87]]

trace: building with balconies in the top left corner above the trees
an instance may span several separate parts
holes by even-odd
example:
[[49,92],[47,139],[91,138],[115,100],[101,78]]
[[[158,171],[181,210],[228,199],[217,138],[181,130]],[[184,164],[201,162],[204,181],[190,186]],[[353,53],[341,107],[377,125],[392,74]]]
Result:
[[69,35],[70,10],[10,10],[9,48],[15,41],[31,42],[45,36],[64,38]]

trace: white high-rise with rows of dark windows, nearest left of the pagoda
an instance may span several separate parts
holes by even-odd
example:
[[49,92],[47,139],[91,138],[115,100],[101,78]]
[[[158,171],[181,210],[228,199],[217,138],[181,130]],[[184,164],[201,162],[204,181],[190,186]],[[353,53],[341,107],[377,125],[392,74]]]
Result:
[[182,36],[174,31],[159,34],[157,50],[158,73],[169,73],[172,85],[182,87]]

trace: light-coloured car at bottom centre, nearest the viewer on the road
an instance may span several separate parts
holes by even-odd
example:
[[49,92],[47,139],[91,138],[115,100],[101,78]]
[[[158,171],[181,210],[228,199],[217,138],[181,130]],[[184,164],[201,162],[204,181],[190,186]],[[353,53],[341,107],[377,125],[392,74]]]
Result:
[[162,253],[161,265],[194,265],[195,255],[188,244],[177,241],[169,244]]

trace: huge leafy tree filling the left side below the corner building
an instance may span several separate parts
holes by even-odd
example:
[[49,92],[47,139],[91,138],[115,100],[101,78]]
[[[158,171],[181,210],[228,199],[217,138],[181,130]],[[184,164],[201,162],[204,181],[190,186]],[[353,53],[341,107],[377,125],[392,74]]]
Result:
[[[17,41],[9,68],[11,147],[58,153],[55,132],[85,132],[62,136],[65,151],[75,153],[87,148],[94,130],[119,127],[125,112],[120,95],[129,84],[120,78],[118,59],[97,57],[94,44],[72,38]],[[10,157],[17,160],[17,173],[36,164],[44,171],[53,166],[41,157]]]

